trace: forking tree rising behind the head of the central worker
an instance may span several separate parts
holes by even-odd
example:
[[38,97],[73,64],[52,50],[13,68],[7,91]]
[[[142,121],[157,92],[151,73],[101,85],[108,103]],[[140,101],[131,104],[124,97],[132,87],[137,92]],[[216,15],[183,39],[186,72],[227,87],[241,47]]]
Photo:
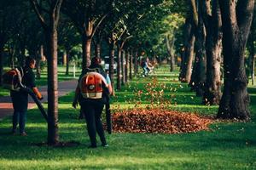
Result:
[[62,12],[73,20],[82,37],[83,64],[90,65],[90,45],[98,27],[111,12],[113,0],[64,0]]

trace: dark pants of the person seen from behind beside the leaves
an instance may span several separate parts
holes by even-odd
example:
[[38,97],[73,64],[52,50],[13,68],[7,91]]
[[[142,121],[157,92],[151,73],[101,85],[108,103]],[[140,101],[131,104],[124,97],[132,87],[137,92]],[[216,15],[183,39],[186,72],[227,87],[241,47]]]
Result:
[[96,132],[100,136],[102,144],[107,144],[101,119],[103,107],[103,103],[97,101],[86,101],[81,105],[87,123],[91,146],[96,146]]

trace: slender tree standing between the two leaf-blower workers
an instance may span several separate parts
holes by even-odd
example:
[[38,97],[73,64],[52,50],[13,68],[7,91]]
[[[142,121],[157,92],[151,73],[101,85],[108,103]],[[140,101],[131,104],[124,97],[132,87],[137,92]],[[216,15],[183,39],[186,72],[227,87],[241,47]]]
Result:
[[[45,34],[48,71],[48,144],[59,143],[58,133],[58,65],[57,65],[57,26],[62,0],[30,0]],[[44,8],[46,7],[46,8]]]

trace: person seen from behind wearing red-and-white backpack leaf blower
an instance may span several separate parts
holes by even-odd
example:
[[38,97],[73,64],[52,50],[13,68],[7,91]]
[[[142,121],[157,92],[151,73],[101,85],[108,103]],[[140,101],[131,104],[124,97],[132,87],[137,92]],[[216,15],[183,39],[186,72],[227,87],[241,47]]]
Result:
[[112,94],[113,88],[107,81],[108,76],[100,65],[101,59],[91,59],[89,68],[84,69],[79,77],[79,83],[73,99],[73,107],[78,103],[84,113],[87,130],[90,137],[90,148],[96,148],[96,133],[100,136],[102,146],[108,147],[102,126],[102,111]]

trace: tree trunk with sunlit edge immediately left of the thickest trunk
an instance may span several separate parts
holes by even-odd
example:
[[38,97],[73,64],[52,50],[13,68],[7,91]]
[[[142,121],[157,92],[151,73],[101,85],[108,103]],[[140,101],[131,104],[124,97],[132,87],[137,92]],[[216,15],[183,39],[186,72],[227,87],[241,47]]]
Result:
[[205,105],[218,105],[221,98],[221,79],[220,79],[220,61],[221,61],[221,18],[218,8],[218,0],[211,2],[205,1],[204,22],[207,29],[207,80],[203,103]]

